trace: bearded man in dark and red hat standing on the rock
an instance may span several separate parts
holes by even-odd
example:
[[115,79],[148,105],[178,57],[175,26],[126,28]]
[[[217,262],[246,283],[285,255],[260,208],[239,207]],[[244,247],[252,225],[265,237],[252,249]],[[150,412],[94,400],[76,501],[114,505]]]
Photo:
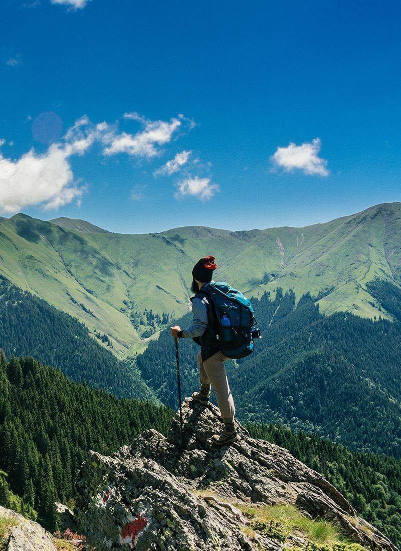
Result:
[[223,419],[224,430],[222,434],[215,434],[212,438],[216,444],[222,446],[237,442],[240,437],[234,423],[236,408],[224,369],[224,361],[228,358],[220,350],[216,314],[206,292],[207,285],[212,282],[213,271],[216,268],[214,256],[201,258],[195,264],[192,271],[192,290],[195,296],[191,298],[193,323],[188,329],[181,329],[178,325],[170,329],[174,338],[193,338],[201,347],[196,356],[201,387],[199,392],[193,394],[193,399],[206,406],[209,403],[210,386],[213,387]]

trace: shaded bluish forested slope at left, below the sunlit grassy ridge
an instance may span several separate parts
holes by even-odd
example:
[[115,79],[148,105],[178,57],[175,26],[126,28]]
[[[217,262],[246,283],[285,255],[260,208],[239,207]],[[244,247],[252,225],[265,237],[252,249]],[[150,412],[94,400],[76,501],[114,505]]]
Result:
[[119,397],[156,401],[140,374],[103,348],[98,337],[37,296],[0,281],[0,348],[8,358],[32,355],[74,381]]

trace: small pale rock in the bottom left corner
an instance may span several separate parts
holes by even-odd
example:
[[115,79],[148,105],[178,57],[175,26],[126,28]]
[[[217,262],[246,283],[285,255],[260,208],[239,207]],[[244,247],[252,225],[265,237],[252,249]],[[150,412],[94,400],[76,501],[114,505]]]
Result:
[[50,534],[37,522],[26,520],[15,511],[1,506],[0,517],[12,518],[14,521],[8,541],[4,544],[6,551],[57,551]]

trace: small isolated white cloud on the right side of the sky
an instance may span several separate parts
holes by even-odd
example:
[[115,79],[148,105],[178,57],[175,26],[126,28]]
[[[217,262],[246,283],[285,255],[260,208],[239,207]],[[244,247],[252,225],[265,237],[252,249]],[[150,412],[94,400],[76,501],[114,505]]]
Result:
[[327,170],[327,160],[318,156],[321,145],[320,138],[301,145],[290,143],[287,147],[278,147],[270,160],[276,168],[281,168],[285,172],[302,170],[304,174],[328,176],[330,172]]

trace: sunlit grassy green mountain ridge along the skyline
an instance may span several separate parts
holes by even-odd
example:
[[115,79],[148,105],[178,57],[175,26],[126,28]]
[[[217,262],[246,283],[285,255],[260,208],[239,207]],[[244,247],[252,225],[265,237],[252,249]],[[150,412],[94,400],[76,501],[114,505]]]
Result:
[[17,214],[0,222],[0,274],[78,317],[93,334],[106,334],[124,355],[188,311],[191,269],[205,253],[218,258],[216,279],[248,294],[310,291],[321,312],[378,315],[366,285],[375,277],[401,283],[400,238],[401,203],[305,228],[189,226],[143,235]]

